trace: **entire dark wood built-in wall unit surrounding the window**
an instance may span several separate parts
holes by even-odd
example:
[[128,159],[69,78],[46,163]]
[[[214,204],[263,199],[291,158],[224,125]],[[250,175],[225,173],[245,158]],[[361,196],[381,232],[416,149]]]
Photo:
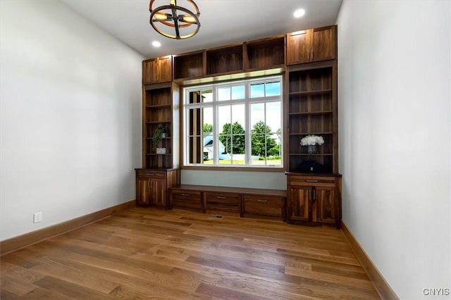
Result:
[[[285,74],[284,161],[287,191],[180,185],[178,85]],[[336,25],[143,61],[142,169],[137,204],[204,213],[277,217],[292,224],[340,227]],[[156,153],[157,127],[166,136]],[[317,151],[300,144],[321,136]],[[168,190],[168,192],[167,192]]]

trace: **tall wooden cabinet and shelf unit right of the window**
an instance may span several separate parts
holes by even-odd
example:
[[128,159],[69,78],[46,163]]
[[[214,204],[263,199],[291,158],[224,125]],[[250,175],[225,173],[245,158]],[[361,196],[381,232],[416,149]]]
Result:
[[[328,26],[287,35],[285,140],[291,224],[341,225],[336,30]],[[315,151],[301,145],[309,135],[324,140]]]

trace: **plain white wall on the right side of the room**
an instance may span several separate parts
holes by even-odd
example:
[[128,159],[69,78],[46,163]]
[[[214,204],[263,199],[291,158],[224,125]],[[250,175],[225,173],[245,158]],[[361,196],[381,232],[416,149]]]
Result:
[[343,220],[400,299],[451,289],[451,2],[344,1]]

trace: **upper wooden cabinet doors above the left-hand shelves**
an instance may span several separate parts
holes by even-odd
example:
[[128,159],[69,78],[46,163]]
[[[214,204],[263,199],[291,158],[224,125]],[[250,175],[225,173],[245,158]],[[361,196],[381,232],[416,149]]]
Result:
[[142,62],[142,84],[152,85],[172,80],[172,57],[163,56]]

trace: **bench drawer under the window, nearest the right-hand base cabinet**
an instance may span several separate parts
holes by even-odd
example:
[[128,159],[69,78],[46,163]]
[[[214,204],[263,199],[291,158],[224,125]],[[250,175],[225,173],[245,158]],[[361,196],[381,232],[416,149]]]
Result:
[[285,199],[270,196],[244,196],[245,213],[284,217]]

